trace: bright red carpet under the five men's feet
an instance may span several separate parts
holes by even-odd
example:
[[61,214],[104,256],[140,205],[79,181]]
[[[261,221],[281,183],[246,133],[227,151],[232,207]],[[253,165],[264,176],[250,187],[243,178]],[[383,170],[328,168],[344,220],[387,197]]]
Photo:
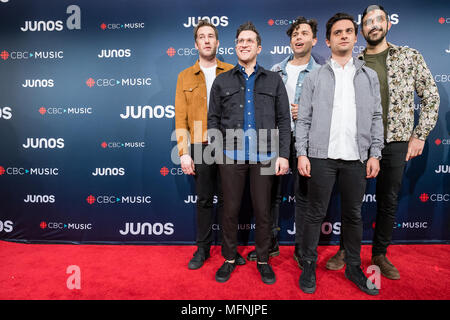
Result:
[[[245,257],[252,247],[241,247]],[[188,270],[193,246],[31,245],[0,241],[0,299],[179,299],[179,300],[447,300],[450,299],[449,245],[392,245],[389,259],[400,280],[381,277],[380,294],[360,292],[344,271],[328,271],[326,260],[336,246],[319,247],[317,291],[298,287],[300,269],[293,247],[281,246],[271,259],[274,285],[261,282],[255,262],[237,267],[227,283],[214,280],[223,260],[220,247],[199,270]],[[363,246],[364,270],[371,246]],[[69,290],[67,267],[81,270],[81,289]]]

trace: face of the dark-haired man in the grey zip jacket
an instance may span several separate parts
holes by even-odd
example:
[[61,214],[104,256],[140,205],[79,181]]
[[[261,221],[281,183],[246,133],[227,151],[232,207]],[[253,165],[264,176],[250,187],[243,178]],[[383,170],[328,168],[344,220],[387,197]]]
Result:
[[353,22],[344,19],[337,21],[331,27],[330,40],[327,39],[326,43],[332,53],[343,55],[353,50],[357,40]]

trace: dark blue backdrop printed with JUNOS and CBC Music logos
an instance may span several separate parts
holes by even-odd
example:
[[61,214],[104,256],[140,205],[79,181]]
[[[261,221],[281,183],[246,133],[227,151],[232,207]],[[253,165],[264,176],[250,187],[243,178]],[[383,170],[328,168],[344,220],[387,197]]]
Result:
[[[265,68],[290,52],[299,15],[319,22],[313,55],[329,56],[325,23],[361,22],[368,1],[0,0],[0,239],[45,243],[179,244],[195,240],[195,186],[171,154],[178,73],[194,64],[193,26],[219,30],[218,57],[236,64],[237,27],[253,21]],[[450,240],[450,6],[381,3],[388,40],[418,49],[439,88],[439,119],[423,155],[406,167],[393,240]],[[356,56],[365,47],[359,34]],[[416,97],[416,117],[420,110]],[[174,151],[175,150],[175,151]],[[291,173],[292,174],[292,173]],[[291,175],[292,177],[292,175]],[[247,194],[248,196],[248,194]],[[294,241],[292,179],[283,182],[280,240]],[[321,243],[339,241],[335,192]],[[364,241],[373,235],[375,181],[364,197]],[[220,242],[220,224],[213,225]],[[240,240],[255,224],[243,201]]]

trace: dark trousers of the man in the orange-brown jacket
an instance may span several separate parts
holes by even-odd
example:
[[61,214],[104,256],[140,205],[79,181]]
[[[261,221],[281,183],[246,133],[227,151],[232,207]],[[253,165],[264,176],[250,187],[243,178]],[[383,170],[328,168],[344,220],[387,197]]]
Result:
[[[217,164],[206,164],[203,159],[194,155],[200,155],[195,152],[196,148],[203,150],[206,144],[193,144],[191,146],[191,157],[195,165],[195,189],[197,193],[197,236],[196,244],[200,248],[209,251],[213,242],[212,224],[214,221],[214,195],[217,192],[217,215],[222,214],[223,197],[220,183],[219,167]],[[196,163],[198,162],[198,163]]]

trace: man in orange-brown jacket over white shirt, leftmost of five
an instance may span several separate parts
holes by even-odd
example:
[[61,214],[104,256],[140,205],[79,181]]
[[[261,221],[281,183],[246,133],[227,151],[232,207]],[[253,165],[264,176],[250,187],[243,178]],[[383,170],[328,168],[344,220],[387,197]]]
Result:
[[[191,270],[199,269],[210,256],[216,190],[219,216],[223,207],[217,164],[205,163],[202,155],[208,145],[206,121],[212,83],[217,75],[233,68],[216,58],[219,34],[213,24],[207,20],[199,21],[194,29],[194,40],[198,60],[178,75],[175,96],[175,129],[181,168],[185,174],[194,176],[197,193],[197,251],[188,264]],[[236,262],[245,264],[239,254]]]

